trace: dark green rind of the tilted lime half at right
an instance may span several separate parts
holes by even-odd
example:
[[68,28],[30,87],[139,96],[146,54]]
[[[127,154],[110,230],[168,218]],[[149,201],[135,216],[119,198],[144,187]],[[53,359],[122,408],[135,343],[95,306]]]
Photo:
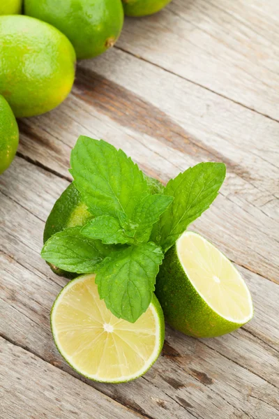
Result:
[[188,279],[176,250],[176,244],[165,254],[156,278],[156,296],[172,328],[193,337],[217,337],[246,324],[223,318],[203,300]]

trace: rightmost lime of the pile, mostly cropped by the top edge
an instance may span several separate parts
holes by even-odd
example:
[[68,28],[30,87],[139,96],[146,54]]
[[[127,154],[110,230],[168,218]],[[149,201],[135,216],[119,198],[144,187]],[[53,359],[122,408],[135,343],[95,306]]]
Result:
[[147,16],[157,13],[172,0],[122,0],[126,16]]

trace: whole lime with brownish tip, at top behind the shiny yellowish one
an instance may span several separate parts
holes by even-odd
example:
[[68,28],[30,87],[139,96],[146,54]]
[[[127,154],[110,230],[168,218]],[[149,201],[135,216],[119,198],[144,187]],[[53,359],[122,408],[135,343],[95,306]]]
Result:
[[24,13],[68,36],[78,59],[96,57],[112,47],[123,26],[121,0],[25,0]]

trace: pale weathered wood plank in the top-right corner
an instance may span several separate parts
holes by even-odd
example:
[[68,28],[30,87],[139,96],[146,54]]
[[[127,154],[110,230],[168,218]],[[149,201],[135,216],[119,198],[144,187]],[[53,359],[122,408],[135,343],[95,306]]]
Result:
[[278,120],[278,27],[277,0],[173,0],[117,47]]

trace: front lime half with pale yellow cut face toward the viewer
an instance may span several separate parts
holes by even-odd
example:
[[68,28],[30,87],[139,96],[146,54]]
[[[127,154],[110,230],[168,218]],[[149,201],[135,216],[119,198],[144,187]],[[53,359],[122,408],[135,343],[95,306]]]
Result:
[[165,325],[155,295],[135,322],[116,318],[100,300],[95,275],[70,281],[56,298],[52,334],[65,360],[96,381],[123,383],[142,376],[160,355]]

